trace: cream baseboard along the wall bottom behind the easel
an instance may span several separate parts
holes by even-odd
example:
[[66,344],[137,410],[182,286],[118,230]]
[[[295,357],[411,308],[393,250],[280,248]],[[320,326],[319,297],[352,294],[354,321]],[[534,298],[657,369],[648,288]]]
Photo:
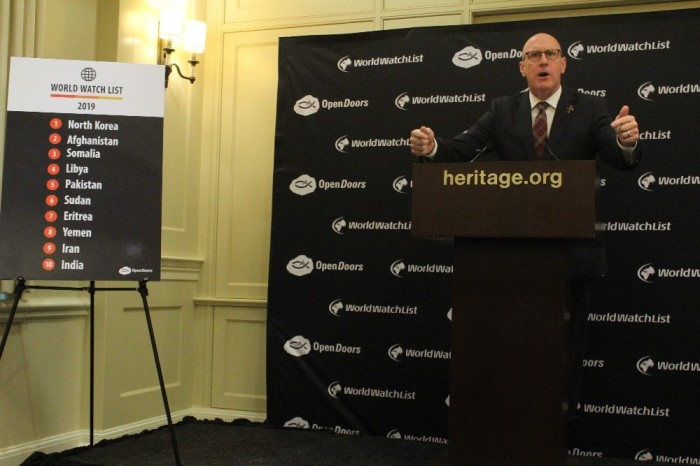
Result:
[[[186,416],[193,416],[201,420],[221,419],[226,422],[235,419],[248,419],[249,421],[263,422],[266,419],[265,413],[263,412],[215,408],[190,408],[171,414],[173,423],[180,422]],[[138,434],[144,430],[157,429],[158,427],[167,425],[167,423],[165,416],[157,416],[111,429],[95,430],[93,431],[93,443],[98,443],[105,439],[119,438],[124,435]],[[17,466],[36,451],[55,453],[70,450],[71,448],[82,447],[89,443],[90,431],[83,429],[23,443],[21,445],[13,445],[0,450],[0,466]]]

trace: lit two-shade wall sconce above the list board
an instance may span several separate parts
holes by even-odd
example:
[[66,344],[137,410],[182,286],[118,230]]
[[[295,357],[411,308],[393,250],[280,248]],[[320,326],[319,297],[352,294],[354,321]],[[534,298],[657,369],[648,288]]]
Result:
[[[181,9],[171,6],[162,7],[160,10],[160,25],[158,31],[159,50],[158,64],[165,65],[165,87],[168,87],[170,74],[173,68],[182,78],[194,83],[194,67],[199,64],[198,53],[204,53],[204,43],[207,35],[207,25],[204,21],[184,21],[185,15]],[[177,63],[170,63],[170,55],[175,51],[173,41],[182,36],[182,24],[185,23],[183,45],[186,52],[192,54],[187,62],[192,66],[192,76],[182,74]]]

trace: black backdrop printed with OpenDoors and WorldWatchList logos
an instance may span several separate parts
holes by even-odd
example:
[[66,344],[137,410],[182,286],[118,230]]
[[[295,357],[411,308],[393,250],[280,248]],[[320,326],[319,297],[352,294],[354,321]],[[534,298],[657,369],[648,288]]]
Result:
[[600,167],[610,272],[593,295],[570,453],[698,464],[699,19],[282,39],[269,422],[447,442],[451,246],[410,237],[408,135],[457,134],[523,90],[522,44],[546,31],[567,56],[564,84],[605,97],[613,115],[628,104],[644,145],[636,171]]

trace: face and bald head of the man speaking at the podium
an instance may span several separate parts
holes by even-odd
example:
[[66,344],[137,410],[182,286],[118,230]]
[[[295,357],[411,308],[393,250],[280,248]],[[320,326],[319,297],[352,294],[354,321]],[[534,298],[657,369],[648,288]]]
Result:
[[545,50],[561,50],[559,42],[549,34],[536,34],[523,46],[523,59],[520,62],[520,74],[527,79],[527,86],[535,96],[544,100],[554,94],[561,86],[561,75],[566,70],[566,57],[563,55],[554,60],[548,59],[542,53],[536,61],[531,61],[527,52],[544,52]]

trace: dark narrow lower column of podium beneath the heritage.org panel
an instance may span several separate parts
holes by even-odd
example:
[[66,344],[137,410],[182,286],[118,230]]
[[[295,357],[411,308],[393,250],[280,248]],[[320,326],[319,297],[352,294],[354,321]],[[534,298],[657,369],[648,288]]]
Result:
[[568,243],[455,243],[449,464],[562,466]]

